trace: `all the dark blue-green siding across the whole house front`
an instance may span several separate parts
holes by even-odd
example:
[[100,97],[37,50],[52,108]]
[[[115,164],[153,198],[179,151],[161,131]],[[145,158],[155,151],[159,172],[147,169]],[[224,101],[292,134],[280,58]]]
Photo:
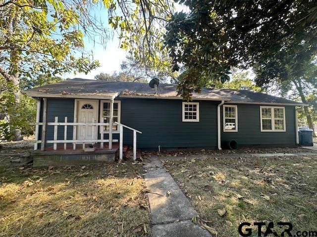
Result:
[[[182,101],[167,99],[120,98],[121,123],[138,129],[138,148],[216,148],[217,147],[217,105],[216,101],[200,102],[200,121],[182,122]],[[48,98],[48,122],[74,119],[74,99]],[[239,146],[271,145],[295,146],[294,106],[285,106],[286,132],[261,132],[260,105],[238,104],[238,132],[223,132],[221,108],[221,141],[236,140]],[[99,110],[100,106],[98,107]],[[100,114],[100,111],[98,112]],[[40,121],[43,120],[43,100]],[[64,127],[58,126],[58,138],[62,140]],[[41,139],[41,126],[39,139]],[[99,138],[100,138],[100,133]],[[123,130],[124,144],[133,145],[133,133]],[[67,128],[67,139],[72,139],[73,127]],[[108,135],[105,134],[105,138]],[[113,134],[119,139],[119,134]],[[47,127],[47,140],[53,140],[53,126]],[[47,144],[52,146],[52,144]],[[40,144],[39,144],[40,147]]]

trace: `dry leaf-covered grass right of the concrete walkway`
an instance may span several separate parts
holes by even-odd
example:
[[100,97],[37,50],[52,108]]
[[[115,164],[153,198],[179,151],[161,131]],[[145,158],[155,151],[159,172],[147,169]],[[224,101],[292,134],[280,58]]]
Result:
[[[164,164],[219,237],[238,237],[241,222],[256,221],[276,224],[289,220],[295,231],[316,231],[317,156],[210,156],[203,160],[167,160]],[[221,217],[219,209],[226,214]],[[275,230],[281,233],[278,227]]]

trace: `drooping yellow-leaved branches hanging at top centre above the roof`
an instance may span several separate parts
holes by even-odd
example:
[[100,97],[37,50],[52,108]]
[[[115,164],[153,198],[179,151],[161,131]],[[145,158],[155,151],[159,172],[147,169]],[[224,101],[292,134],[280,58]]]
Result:
[[109,6],[109,25],[118,32],[120,47],[130,55],[126,60],[127,67],[136,71],[139,67],[142,70],[151,69],[151,77],[156,72],[159,74],[156,77],[164,80],[164,74],[171,71],[171,60],[163,37],[165,26],[174,12],[174,1],[137,0],[132,4],[119,0],[104,2]]

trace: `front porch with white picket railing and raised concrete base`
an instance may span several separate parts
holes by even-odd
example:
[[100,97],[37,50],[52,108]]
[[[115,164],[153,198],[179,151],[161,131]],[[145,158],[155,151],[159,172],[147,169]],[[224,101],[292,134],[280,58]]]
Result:
[[[142,132],[114,118],[113,114],[118,115],[118,111],[114,113],[113,99],[103,103],[99,104],[96,100],[75,100],[73,118],[55,116],[52,119],[51,115],[51,121],[48,121],[47,99],[43,98],[42,103],[39,100],[34,123],[35,151],[31,154],[34,166],[114,162],[116,157],[121,161],[124,155],[132,160],[140,157],[141,152],[137,152],[137,133]],[[117,110],[118,106],[117,103]],[[104,107],[106,109],[102,109]],[[123,129],[132,131],[132,151],[123,145]],[[113,139],[113,133],[119,137]]]

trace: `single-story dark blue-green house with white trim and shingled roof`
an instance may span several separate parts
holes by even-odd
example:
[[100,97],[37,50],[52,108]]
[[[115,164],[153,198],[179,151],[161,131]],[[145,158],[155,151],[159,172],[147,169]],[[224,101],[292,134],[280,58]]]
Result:
[[174,84],[155,89],[148,83],[77,78],[23,93],[38,100],[35,149],[50,154],[91,143],[113,150],[117,142],[140,149],[221,149],[231,140],[249,147],[296,146],[296,108],[304,106],[216,88],[203,88],[187,102]]

